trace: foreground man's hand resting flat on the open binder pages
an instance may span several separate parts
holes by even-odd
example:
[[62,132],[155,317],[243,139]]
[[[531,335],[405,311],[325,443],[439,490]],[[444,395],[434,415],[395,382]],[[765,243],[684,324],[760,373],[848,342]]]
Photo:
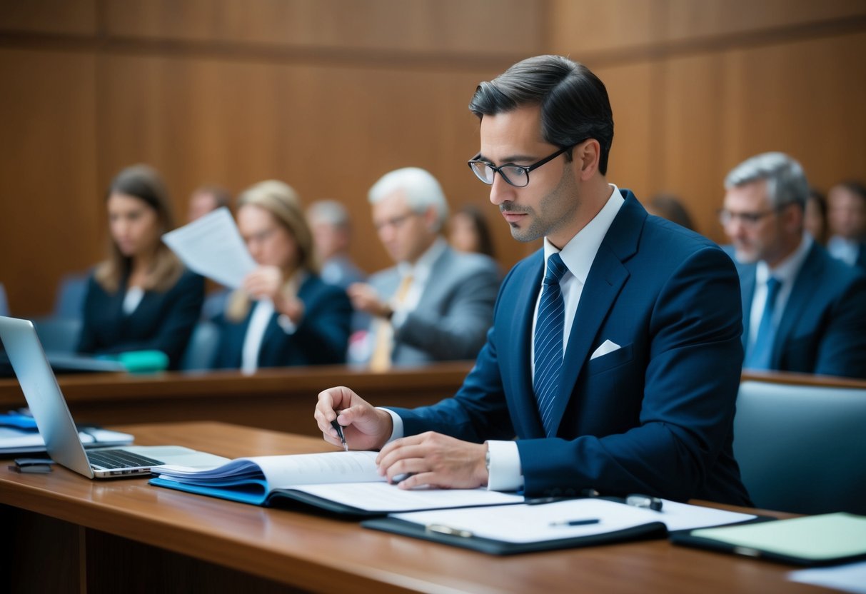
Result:
[[379,452],[379,474],[393,482],[408,475],[400,488],[430,485],[441,488],[475,488],[488,483],[487,444],[428,431],[417,436],[395,439]]

